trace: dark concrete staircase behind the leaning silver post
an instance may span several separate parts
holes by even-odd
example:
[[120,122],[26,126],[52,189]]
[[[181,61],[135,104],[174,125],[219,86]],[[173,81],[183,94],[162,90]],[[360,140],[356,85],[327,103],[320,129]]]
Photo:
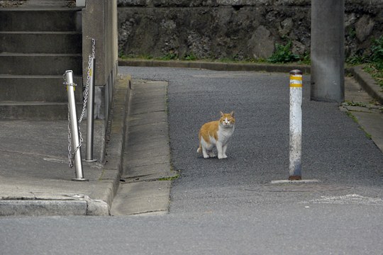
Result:
[[55,4],[0,8],[0,119],[66,119],[62,74],[68,69],[75,75],[76,101],[81,103],[78,24],[80,8]]

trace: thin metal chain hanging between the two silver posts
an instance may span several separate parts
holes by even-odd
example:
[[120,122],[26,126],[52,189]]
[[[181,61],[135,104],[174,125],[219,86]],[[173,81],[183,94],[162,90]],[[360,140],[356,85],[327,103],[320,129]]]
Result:
[[[96,40],[94,40],[94,38],[92,38],[91,39],[91,55],[89,55],[89,62],[88,62],[88,69],[87,69],[87,84],[86,84],[84,92],[83,92],[82,112],[81,112],[81,115],[80,115],[80,118],[78,121],[79,125],[82,122],[82,119],[84,118],[84,115],[85,115],[85,111],[87,109],[88,91],[89,91],[89,83],[90,83],[90,79],[91,79],[91,72],[94,72],[94,70],[91,70],[91,61],[94,58],[95,46],[96,46]],[[67,82],[67,80],[65,79],[65,74],[64,74],[64,84],[66,84],[67,86],[68,85],[76,86],[77,84],[74,84],[74,83],[69,84]],[[88,116],[88,118],[89,118],[89,116]],[[71,126],[72,126],[72,123],[71,123],[71,119],[70,119],[70,109],[69,109],[69,103],[68,103],[68,160],[69,160],[70,168],[73,167],[74,156],[76,155],[77,150],[81,148],[82,142],[84,141],[84,139],[82,138],[82,133],[81,133],[80,126],[79,126],[79,145],[77,145],[76,149],[74,149],[74,152],[72,153],[72,134],[70,132]]]

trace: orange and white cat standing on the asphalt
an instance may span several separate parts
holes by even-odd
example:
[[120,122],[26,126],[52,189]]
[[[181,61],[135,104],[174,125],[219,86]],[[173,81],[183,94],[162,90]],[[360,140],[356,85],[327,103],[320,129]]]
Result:
[[226,159],[226,149],[228,142],[233,135],[235,127],[234,112],[222,113],[221,118],[202,125],[199,130],[199,148],[198,153],[204,155],[205,159],[216,157],[213,153],[213,147],[217,148],[218,159]]

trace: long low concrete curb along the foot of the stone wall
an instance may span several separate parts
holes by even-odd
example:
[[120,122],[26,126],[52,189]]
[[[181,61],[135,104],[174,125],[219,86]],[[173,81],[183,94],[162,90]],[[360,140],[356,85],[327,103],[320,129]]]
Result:
[[[258,64],[258,63],[221,63],[206,61],[179,61],[179,60],[118,60],[119,66],[131,67],[183,67],[211,69],[216,71],[254,71],[254,72],[285,72],[300,69],[304,74],[311,72],[311,67],[305,64]],[[377,85],[370,74],[363,71],[363,66],[348,67],[346,72],[353,74],[357,82],[380,103],[383,103],[382,89]]]

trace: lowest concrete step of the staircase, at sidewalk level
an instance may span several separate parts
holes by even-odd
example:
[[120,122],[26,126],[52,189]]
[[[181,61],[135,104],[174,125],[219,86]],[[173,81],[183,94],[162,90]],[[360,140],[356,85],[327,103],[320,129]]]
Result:
[[[77,103],[77,118],[82,103]],[[67,103],[47,102],[0,102],[0,119],[11,120],[67,120]]]

